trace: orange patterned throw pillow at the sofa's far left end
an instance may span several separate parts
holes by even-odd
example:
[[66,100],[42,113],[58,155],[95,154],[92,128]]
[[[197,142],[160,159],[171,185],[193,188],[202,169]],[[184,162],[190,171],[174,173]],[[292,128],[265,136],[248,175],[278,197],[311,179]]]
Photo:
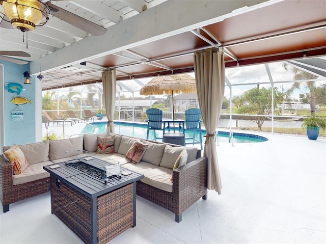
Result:
[[26,160],[24,153],[16,144],[5,151],[4,154],[12,163],[14,175],[21,174],[29,166],[29,162]]

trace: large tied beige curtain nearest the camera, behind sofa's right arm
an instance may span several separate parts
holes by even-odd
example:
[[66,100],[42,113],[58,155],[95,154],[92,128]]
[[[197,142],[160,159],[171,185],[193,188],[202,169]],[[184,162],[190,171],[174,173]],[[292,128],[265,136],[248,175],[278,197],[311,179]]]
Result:
[[209,48],[194,53],[197,96],[207,134],[204,157],[207,157],[207,188],[221,194],[221,177],[214,132],[220,118],[224,97],[225,65],[223,49]]

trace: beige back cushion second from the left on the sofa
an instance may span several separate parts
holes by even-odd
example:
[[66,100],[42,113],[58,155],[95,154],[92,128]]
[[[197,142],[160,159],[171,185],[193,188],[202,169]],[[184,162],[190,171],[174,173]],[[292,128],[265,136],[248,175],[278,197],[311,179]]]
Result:
[[50,140],[49,159],[60,159],[66,157],[66,152],[83,150],[83,137]]

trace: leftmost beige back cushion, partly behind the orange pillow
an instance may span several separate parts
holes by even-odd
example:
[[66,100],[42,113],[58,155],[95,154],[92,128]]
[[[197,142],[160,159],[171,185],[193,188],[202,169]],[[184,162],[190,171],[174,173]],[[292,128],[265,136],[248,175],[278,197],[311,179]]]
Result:
[[[49,160],[49,145],[50,145],[49,141],[45,141],[45,142],[36,142],[36,143],[19,145],[19,148],[23,152],[29,164],[33,165],[36,164],[37,162],[44,162]],[[11,148],[11,146],[4,146],[3,151],[5,152],[9,148]]]

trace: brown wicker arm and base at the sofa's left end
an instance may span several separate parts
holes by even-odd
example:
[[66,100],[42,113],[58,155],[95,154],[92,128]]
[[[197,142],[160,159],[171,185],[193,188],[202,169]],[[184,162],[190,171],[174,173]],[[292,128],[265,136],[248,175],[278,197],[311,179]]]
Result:
[[49,190],[50,177],[14,185],[12,164],[3,154],[0,155],[0,200],[4,212],[9,211],[11,203],[46,193]]

